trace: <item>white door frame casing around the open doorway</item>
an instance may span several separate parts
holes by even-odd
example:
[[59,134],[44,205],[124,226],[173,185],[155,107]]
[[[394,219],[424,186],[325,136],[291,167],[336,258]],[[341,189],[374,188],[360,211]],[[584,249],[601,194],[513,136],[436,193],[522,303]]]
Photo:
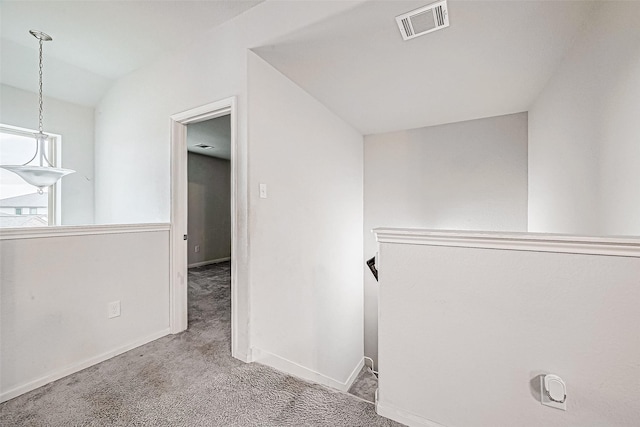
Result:
[[[248,298],[246,279],[240,282],[239,266],[246,264],[246,221],[238,221],[238,213],[246,211],[246,201],[238,197],[238,188],[246,187],[246,172],[238,168],[236,99],[227,98],[171,116],[171,282],[169,319],[171,333],[182,332],[188,326],[188,151],[187,126],[219,117],[229,117],[231,170],[231,354],[250,361],[248,345]],[[242,162],[244,163],[244,162]],[[238,183],[241,183],[239,186]],[[243,193],[244,194],[244,193]],[[244,215],[240,215],[241,218]],[[243,277],[246,274],[242,274]],[[242,289],[239,289],[242,283]]]

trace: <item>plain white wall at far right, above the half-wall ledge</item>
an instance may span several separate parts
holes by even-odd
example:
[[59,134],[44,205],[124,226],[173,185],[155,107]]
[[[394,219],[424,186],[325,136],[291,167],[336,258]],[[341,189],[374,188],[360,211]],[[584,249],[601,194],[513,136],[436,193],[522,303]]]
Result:
[[640,235],[640,3],[603,2],[529,110],[529,231]]

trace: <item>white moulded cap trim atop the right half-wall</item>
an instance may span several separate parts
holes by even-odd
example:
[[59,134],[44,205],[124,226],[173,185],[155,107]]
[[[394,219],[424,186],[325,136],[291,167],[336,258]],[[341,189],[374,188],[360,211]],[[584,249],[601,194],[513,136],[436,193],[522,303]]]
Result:
[[640,258],[640,238],[592,237],[565,234],[484,231],[441,231],[412,228],[376,228],[378,243],[513,251],[556,252]]

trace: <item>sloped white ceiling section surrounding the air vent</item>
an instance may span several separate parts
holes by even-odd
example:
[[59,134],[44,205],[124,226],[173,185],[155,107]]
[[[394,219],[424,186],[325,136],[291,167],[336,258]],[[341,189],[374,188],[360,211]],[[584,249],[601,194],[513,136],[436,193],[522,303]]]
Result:
[[368,1],[255,49],[363,134],[526,111],[593,13],[589,1],[449,0],[450,27],[403,41]]

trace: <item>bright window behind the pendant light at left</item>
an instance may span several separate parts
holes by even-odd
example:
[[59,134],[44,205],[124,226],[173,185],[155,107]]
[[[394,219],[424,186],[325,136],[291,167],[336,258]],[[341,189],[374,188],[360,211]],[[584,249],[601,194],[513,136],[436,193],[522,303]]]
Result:
[[[32,159],[36,150],[36,131],[0,124],[0,164],[38,164]],[[49,135],[47,157],[56,164],[58,135]],[[43,227],[59,223],[60,183],[49,187],[44,194],[24,182],[13,172],[0,169],[0,227]]]

